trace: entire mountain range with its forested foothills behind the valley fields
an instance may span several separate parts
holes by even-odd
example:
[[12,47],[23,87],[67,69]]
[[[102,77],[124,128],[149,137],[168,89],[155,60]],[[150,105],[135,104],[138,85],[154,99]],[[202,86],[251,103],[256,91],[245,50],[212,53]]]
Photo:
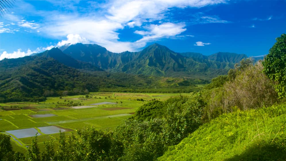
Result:
[[164,92],[190,92],[196,84],[227,74],[243,58],[247,56],[223,52],[209,56],[176,53],[159,44],[123,53],[95,44],[65,45],[32,56],[1,60],[0,102],[36,101],[111,89],[161,92],[157,87],[164,88]]

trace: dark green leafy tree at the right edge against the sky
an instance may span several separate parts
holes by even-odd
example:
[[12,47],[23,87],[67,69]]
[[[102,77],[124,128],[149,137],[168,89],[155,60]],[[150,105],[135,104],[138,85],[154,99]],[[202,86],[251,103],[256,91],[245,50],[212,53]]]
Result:
[[276,91],[280,98],[286,97],[286,34],[276,38],[276,43],[270,48],[262,62],[263,72],[271,80],[277,81]]

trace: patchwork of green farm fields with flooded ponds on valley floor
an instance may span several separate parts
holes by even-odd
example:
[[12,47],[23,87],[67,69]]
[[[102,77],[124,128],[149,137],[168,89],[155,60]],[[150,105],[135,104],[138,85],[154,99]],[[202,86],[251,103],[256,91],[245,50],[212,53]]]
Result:
[[124,123],[146,101],[164,101],[177,95],[179,93],[97,92],[89,95],[49,97],[38,103],[0,104],[0,132],[11,136],[13,148],[18,151],[23,151],[31,145],[31,136],[36,133],[40,147],[45,141],[52,140],[57,144],[60,129],[67,135],[76,129],[91,126],[103,131],[112,130]]

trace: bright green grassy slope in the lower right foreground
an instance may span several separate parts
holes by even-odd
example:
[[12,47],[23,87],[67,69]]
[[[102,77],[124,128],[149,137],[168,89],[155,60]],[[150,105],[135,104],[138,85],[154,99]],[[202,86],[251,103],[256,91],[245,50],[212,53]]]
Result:
[[286,160],[286,104],[223,114],[159,160]]

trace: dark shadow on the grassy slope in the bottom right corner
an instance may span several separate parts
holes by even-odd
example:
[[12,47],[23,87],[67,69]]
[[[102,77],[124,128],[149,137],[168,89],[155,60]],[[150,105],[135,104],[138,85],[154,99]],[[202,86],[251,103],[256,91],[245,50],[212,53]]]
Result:
[[286,161],[285,145],[253,145],[243,154],[235,155],[225,161],[275,160]]

